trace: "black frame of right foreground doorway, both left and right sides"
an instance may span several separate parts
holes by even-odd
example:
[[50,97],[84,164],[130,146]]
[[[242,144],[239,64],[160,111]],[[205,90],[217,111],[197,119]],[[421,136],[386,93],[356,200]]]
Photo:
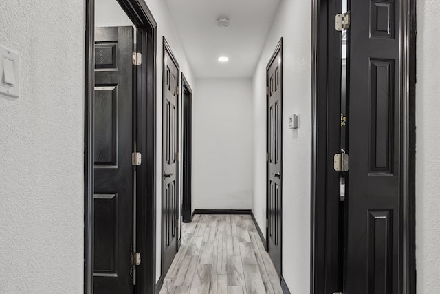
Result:
[[[401,83],[404,85],[404,117],[402,132],[404,137],[404,222],[403,236],[405,238],[404,256],[404,277],[402,282],[402,293],[416,293],[416,271],[415,271],[415,84],[416,84],[416,0],[401,0],[401,15],[403,16],[402,39],[404,42],[403,56],[405,60],[402,66]],[[329,241],[327,234],[326,211],[328,203],[327,194],[327,165],[331,164],[332,158],[328,158],[326,145],[327,114],[326,108],[331,93],[327,93],[329,76],[327,65],[327,45],[329,45],[329,34],[327,22],[333,15],[329,10],[334,3],[327,0],[312,1],[312,76],[311,76],[311,294],[332,293],[333,288],[325,288],[327,280],[332,277],[331,267],[327,263],[334,257],[335,253],[326,251],[326,243]],[[336,73],[339,74],[339,73]],[[324,105],[324,106],[322,106]],[[324,135],[324,137],[323,137]],[[334,281],[333,281],[334,282]],[[324,288],[321,288],[325,285]]]

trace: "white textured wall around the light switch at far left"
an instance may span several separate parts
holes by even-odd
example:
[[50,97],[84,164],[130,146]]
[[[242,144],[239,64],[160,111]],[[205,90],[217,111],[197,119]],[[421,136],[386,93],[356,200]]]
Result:
[[83,293],[85,1],[0,1],[0,293]]

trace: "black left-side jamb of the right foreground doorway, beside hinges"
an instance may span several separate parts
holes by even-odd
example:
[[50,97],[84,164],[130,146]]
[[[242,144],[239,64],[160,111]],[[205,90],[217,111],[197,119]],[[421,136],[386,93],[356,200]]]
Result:
[[[335,104],[340,113],[340,90],[332,87],[335,82],[332,77],[341,76],[341,67],[334,56],[341,52],[341,40],[334,40],[331,34],[333,27],[331,15],[339,13],[338,0],[314,0],[312,2],[312,114],[311,114],[311,293],[323,294],[338,291],[338,279],[342,269],[338,269],[340,260],[338,246],[335,246],[334,232],[338,232],[339,209],[326,196],[339,193],[340,187],[329,185],[329,182],[339,181],[338,174],[329,174],[333,168],[333,158],[328,155],[335,149],[340,150],[339,140],[327,140],[328,128],[332,134],[336,128],[329,125],[329,109]],[[332,38],[333,37],[333,38]],[[339,59],[340,61],[340,59]],[[331,74],[329,72],[331,71]],[[334,116],[333,116],[334,118]],[[335,122],[337,125],[340,123]],[[332,160],[332,161],[329,161]],[[329,177],[332,178],[329,178]],[[335,178],[336,177],[336,178]],[[339,185],[339,182],[338,182]],[[330,233],[331,232],[331,233]],[[342,290],[342,288],[341,288]]]

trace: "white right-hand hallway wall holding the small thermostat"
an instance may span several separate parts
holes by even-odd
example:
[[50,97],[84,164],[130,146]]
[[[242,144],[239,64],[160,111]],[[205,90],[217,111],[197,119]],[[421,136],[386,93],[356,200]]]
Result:
[[[281,36],[283,53],[283,276],[296,293],[310,288],[311,1],[281,1],[253,78],[254,205],[261,228],[266,209],[265,68]],[[287,118],[300,116],[289,129]],[[288,208],[288,209],[287,209]]]

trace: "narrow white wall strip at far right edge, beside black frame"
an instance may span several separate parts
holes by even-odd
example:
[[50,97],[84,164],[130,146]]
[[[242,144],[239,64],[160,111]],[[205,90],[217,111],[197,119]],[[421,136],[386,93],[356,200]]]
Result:
[[417,293],[440,293],[440,5],[417,1]]

